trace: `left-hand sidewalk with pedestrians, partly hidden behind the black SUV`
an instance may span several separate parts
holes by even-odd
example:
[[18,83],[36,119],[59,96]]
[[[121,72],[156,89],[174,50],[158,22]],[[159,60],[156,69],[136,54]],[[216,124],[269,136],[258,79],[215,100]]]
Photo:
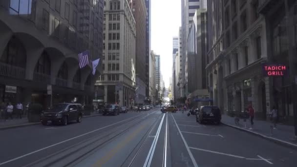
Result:
[[[94,117],[94,116],[99,116],[102,114],[97,114],[97,113],[91,113],[91,115],[85,115],[84,118],[86,117]],[[9,129],[9,128],[15,128],[15,127],[22,127],[22,126],[30,126],[30,125],[38,125],[40,122],[37,123],[29,123],[28,119],[25,115],[22,116],[22,118],[13,118],[12,119],[7,119],[6,121],[3,119],[0,119],[0,130],[1,129]]]

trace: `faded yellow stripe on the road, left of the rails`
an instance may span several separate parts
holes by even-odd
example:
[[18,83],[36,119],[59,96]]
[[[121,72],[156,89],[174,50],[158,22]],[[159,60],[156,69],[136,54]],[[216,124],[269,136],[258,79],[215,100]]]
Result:
[[106,153],[99,161],[97,161],[93,167],[102,167],[106,162],[108,162],[120,149],[127,145],[147,124],[144,124],[137,128],[132,134],[130,134],[123,142],[119,143],[113,149]]

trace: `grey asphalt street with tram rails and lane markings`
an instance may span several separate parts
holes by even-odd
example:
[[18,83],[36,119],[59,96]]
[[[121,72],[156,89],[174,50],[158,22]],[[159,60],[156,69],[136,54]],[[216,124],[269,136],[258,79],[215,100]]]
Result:
[[296,167],[297,151],[159,108],[0,130],[0,167]]

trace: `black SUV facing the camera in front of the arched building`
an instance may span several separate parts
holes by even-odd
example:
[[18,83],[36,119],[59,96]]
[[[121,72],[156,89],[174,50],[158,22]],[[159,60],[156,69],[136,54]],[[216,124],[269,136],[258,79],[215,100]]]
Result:
[[41,123],[62,123],[67,125],[71,121],[82,122],[83,106],[82,104],[61,103],[55,104],[48,110],[42,112]]

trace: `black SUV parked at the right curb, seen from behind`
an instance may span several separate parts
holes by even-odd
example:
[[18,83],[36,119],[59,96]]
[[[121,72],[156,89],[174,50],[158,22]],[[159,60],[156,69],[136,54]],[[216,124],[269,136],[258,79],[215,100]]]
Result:
[[196,112],[196,121],[200,124],[205,121],[220,124],[221,119],[222,114],[218,106],[201,106]]

